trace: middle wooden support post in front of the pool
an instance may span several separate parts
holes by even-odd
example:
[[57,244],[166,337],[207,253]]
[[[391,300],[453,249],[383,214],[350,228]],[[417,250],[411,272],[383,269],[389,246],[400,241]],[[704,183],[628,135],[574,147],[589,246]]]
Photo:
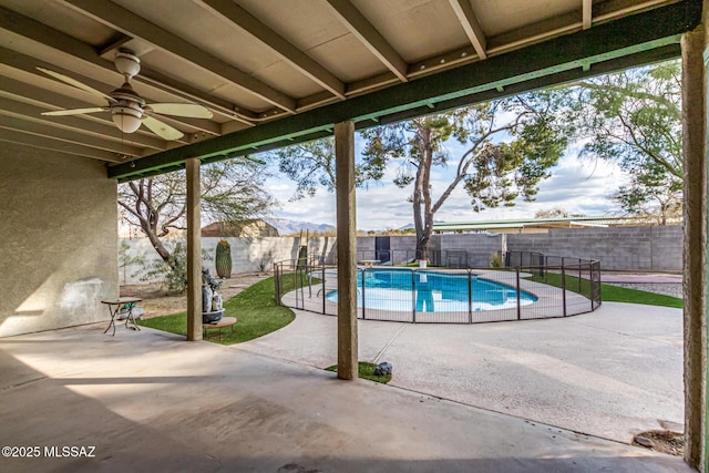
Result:
[[337,173],[337,377],[358,377],[354,123],[335,125]]

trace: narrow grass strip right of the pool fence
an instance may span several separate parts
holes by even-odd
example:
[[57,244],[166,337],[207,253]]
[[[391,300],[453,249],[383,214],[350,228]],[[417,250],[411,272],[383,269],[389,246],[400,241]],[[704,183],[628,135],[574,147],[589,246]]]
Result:
[[[527,279],[536,282],[544,282],[549,286],[562,287],[562,275],[556,273],[547,273],[546,278],[533,276]],[[568,275],[566,276],[566,288],[568,290],[579,292],[578,284],[578,278]],[[582,278],[580,294],[587,295],[589,292],[589,287],[590,281]],[[662,294],[646,292],[644,290],[628,289],[606,284],[600,285],[600,299],[604,302],[645,304],[647,306],[674,307],[678,309],[682,308],[682,300],[677,297],[665,296]]]

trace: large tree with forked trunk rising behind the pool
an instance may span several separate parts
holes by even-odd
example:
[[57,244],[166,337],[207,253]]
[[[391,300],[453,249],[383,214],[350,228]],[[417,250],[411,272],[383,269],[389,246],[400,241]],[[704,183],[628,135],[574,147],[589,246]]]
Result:
[[[462,186],[473,210],[513,206],[533,200],[537,184],[548,177],[566,147],[566,134],[556,122],[556,99],[549,92],[530,93],[370,128],[357,163],[359,185],[383,178],[394,165],[394,184],[412,187],[417,257],[425,258],[433,216],[453,191]],[[464,146],[452,156],[446,142]],[[280,171],[298,183],[296,198],[315,194],[318,185],[336,187],[332,141],[314,142],[276,152]],[[431,172],[454,165],[450,183],[434,195]]]

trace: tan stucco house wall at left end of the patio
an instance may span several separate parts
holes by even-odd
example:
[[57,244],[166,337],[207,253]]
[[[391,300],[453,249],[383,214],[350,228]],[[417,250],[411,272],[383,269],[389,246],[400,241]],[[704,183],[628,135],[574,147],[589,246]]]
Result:
[[107,320],[116,183],[103,163],[0,146],[0,337]]

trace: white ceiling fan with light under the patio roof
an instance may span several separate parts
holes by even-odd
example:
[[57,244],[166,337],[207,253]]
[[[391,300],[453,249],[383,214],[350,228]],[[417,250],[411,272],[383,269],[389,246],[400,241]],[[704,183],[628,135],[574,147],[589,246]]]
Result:
[[60,115],[81,115],[84,113],[111,112],[113,123],[123,133],[133,133],[144,124],[150,131],[164,140],[179,140],[183,133],[168,124],[155,119],[153,113],[162,113],[165,115],[185,116],[191,119],[212,119],[212,112],[202,105],[194,103],[145,103],[145,101],[131,86],[131,79],[141,71],[141,60],[129,50],[120,50],[113,62],[115,69],[123,74],[125,82],[121,88],[104,94],[75,79],[51,71],[44,68],[37,68],[43,73],[59,79],[70,85],[89,92],[95,96],[100,96],[109,101],[106,106],[96,106],[90,109],[58,110],[52,112],[42,112],[42,115],[60,116]]

